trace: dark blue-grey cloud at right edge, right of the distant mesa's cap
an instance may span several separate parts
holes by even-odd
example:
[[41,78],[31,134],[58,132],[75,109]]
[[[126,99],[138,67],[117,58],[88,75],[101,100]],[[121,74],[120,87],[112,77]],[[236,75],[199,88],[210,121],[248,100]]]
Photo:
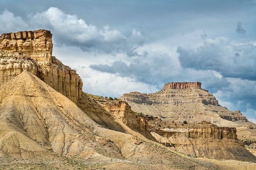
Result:
[[179,61],[184,68],[214,70],[223,77],[256,79],[256,46],[231,45],[226,37],[205,39],[200,46],[178,46]]

